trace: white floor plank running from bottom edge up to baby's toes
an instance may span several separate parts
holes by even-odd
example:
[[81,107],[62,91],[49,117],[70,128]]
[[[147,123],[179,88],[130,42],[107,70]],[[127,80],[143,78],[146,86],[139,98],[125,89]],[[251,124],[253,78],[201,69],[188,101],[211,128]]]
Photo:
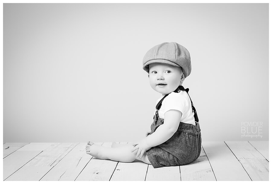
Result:
[[76,145],[40,181],[74,181],[91,159],[91,156],[86,154],[86,144]]

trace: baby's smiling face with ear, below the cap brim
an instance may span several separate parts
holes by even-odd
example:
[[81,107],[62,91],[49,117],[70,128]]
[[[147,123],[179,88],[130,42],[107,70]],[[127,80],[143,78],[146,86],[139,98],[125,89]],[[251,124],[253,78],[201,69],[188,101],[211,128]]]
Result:
[[149,83],[155,91],[163,95],[169,94],[176,90],[183,81],[184,74],[181,67],[163,63],[149,64]]

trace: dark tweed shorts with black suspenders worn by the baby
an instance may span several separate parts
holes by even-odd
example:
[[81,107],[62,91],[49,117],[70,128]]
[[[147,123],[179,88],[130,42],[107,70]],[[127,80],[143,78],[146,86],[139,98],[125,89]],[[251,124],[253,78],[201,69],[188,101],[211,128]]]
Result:
[[[184,89],[183,86],[179,86],[174,92],[178,93],[180,90],[185,90],[188,94],[189,88]],[[151,134],[164,123],[164,119],[159,117],[158,110],[167,95],[156,106],[156,115],[154,115],[154,121],[151,124]],[[147,158],[154,168],[185,165],[192,163],[199,157],[201,152],[201,133],[192,100],[191,104],[196,125],[180,122],[177,131],[169,140],[146,151]]]

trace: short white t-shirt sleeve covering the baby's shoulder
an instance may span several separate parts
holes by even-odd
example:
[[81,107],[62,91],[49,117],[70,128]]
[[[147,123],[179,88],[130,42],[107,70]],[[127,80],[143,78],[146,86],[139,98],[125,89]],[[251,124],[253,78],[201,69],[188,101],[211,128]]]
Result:
[[166,98],[164,102],[164,113],[168,110],[174,109],[179,110],[182,114],[184,110],[188,107],[188,102],[184,96],[180,93],[172,92]]

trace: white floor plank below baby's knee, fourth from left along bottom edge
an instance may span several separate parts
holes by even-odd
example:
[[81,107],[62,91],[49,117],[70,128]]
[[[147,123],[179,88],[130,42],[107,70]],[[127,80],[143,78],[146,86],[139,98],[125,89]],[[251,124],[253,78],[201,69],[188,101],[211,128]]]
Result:
[[131,163],[118,162],[110,181],[144,181],[147,167],[148,164],[140,160]]

